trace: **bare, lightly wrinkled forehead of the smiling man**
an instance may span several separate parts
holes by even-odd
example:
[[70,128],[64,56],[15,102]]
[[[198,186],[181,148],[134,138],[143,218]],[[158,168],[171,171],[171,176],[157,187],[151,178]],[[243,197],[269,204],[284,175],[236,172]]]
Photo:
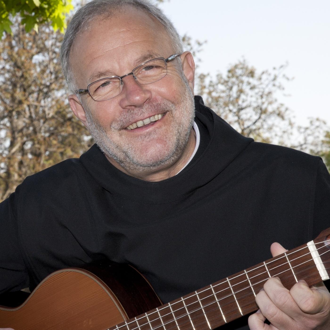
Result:
[[[76,38],[70,64],[76,81],[88,83],[96,72],[123,75],[145,55],[172,55],[170,37],[154,17],[135,8],[123,8],[109,18],[95,19]],[[139,62],[140,61],[140,62]],[[127,72],[126,72],[127,71]]]

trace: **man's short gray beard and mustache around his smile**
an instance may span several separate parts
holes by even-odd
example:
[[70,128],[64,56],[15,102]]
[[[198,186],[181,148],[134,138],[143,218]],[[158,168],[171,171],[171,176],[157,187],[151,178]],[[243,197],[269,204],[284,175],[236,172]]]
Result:
[[[133,170],[139,172],[149,172],[163,168],[174,163],[182,154],[185,149],[189,135],[191,133],[192,125],[195,117],[195,104],[194,97],[190,88],[185,85],[184,93],[181,96],[181,102],[179,106],[174,103],[163,100],[156,103],[145,104],[141,108],[132,110],[125,109],[122,115],[112,122],[110,129],[113,134],[117,135],[118,141],[120,141],[120,131],[123,127],[127,127],[132,121],[132,118],[143,117],[144,114],[150,113],[150,110],[157,110],[155,113],[165,113],[166,116],[176,117],[172,125],[171,137],[168,138],[168,152],[159,159],[148,160],[143,158],[139,154],[138,144],[143,144],[146,141],[152,141],[153,138],[159,136],[159,130],[154,132],[153,130],[146,132],[142,136],[138,136],[135,139],[135,148],[132,145],[122,140],[120,144],[115,143],[110,139],[105,128],[91,116],[89,109],[85,108],[86,120],[91,136],[98,147],[108,156],[113,158],[122,168],[126,170]],[[162,128],[160,128],[161,130]],[[152,152],[152,151],[150,151]]]

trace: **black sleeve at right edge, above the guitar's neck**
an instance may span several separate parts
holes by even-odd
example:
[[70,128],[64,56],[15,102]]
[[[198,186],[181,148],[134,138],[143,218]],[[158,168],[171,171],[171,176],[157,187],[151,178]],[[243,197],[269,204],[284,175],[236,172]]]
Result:
[[314,200],[313,239],[330,227],[330,174],[322,159],[319,160]]

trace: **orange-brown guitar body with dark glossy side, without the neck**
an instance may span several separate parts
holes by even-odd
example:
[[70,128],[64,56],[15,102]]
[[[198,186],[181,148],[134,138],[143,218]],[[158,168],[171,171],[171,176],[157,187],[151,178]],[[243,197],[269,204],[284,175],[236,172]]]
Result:
[[0,306],[0,328],[104,330],[160,305],[149,282],[129,265],[68,268],[50,274],[22,305]]

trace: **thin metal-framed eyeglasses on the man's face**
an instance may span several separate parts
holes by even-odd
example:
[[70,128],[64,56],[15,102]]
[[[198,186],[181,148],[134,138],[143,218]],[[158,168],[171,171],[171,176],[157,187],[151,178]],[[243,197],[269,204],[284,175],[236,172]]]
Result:
[[90,83],[86,89],[79,89],[76,93],[88,93],[94,101],[110,100],[121,93],[124,84],[122,79],[124,77],[133,75],[134,79],[142,85],[157,82],[167,75],[167,62],[173,61],[180,55],[175,54],[168,58],[154,58],[140,64],[126,75],[99,79]]

